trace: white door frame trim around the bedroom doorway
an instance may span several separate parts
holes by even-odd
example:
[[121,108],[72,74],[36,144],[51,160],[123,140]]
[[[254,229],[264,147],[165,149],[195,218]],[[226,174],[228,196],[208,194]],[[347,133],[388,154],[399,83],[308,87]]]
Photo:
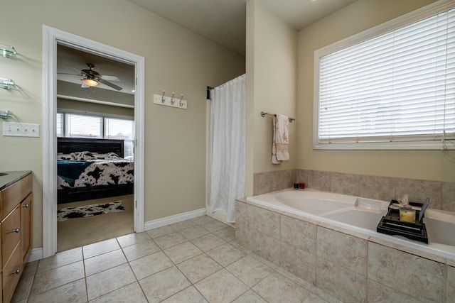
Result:
[[43,258],[57,252],[57,44],[135,66],[134,231],[144,231],[144,57],[43,25]]

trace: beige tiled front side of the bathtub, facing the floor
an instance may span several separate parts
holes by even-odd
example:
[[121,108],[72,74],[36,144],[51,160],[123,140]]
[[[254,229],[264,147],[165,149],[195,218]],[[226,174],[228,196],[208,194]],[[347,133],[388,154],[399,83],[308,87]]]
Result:
[[454,302],[455,260],[246,199],[237,243],[342,302]]

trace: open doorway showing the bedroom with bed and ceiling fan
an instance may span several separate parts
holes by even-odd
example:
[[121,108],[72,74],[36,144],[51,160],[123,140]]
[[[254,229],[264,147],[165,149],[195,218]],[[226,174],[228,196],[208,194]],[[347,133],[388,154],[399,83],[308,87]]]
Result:
[[134,65],[57,45],[58,252],[134,232],[134,79]]

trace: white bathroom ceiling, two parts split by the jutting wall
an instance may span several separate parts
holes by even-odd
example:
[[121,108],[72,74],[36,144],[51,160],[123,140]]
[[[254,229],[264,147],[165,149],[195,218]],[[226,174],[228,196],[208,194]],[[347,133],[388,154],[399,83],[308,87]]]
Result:
[[[246,0],[129,0],[245,55]],[[297,31],[356,0],[260,0]]]

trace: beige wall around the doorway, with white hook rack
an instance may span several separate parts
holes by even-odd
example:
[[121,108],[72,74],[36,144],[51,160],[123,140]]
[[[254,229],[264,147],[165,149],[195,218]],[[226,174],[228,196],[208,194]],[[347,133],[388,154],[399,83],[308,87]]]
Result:
[[[205,87],[242,75],[245,57],[123,0],[17,0],[0,20],[10,25],[0,43],[18,51],[0,57],[0,77],[19,87],[0,89],[0,109],[18,121],[43,123],[43,24],[144,56],[145,221],[205,207]],[[184,94],[188,109],[154,105],[163,89]],[[33,248],[42,246],[42,150],[42,138],[1,137],[0,170],[33,171]]]

